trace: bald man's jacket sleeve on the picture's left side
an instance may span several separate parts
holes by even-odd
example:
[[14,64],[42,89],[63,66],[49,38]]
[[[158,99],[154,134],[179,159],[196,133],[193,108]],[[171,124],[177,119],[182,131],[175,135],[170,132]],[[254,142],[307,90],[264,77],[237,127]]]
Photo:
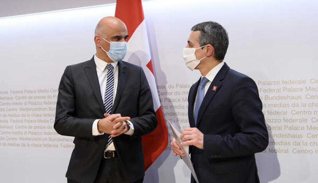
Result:
[[75,110],[72,70],[67,66],[59,84],[54,129],[61,135],[93,138],[92,126],[95,119],[77,118]]

